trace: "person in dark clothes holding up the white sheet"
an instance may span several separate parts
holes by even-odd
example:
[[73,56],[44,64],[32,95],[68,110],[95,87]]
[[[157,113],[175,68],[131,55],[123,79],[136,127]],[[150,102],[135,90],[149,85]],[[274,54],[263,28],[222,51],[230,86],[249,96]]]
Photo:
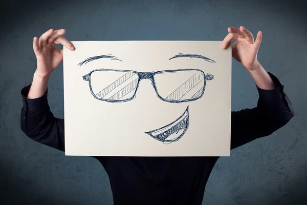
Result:
[[[259,93],[257,107],[231,113],[231,149],[269,136],[294,116],[283,86],[257,60],[262,32],[256,39],[240,26],[228,28],[221,49],[231,40],[232,56],[243,64]],[[47,99],[48,80],[63,60],[61,44],[74,46],[62,35],[64,29],[50,29],[34,37],[37,68],[32,84],[21,90],[21,130],[31,139],[64,151],[64,119],[53,116]],[[86,138],[86,136],[84,136]],[[218,157],[95,157],[108,174],[114,204],[202,204],[207,180]]]

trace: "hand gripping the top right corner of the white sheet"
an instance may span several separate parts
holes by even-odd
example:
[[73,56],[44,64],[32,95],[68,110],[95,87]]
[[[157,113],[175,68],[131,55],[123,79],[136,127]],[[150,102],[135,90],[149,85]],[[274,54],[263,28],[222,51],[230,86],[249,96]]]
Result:
[[262,32],[258,31],[255,42],[253,34],[243,26],[229,27],[228,32],[221,45],[222,49],[225,49],[231,40],[235,39],[236,42],[231,45],[232,57],[242,63],[248,71],[257,69],[259,67],[257,53],[261,44]]

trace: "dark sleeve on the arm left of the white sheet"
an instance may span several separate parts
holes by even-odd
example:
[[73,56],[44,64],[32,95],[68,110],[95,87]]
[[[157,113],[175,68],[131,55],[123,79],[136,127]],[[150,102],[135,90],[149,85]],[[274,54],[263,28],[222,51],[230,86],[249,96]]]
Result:
[[47,93],[35,99],[27,98],[31,85],[21,90],[23,108],[20,115],[21,130],[31,139],[64,151],[64,119],[53,116]]

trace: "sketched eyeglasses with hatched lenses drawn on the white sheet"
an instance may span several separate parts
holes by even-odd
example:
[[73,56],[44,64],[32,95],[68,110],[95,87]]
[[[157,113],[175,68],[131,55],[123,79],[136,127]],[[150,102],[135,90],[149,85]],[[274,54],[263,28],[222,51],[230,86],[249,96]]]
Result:
[[213,75],[199,69],[137,72],[133,70],[96,69],[82,76],[89,81],[91,94],[99,100],[120,103],[136,97],[140,81],[151,80],[157,96],[169,103],[194,101],[204,95],[206,80]]

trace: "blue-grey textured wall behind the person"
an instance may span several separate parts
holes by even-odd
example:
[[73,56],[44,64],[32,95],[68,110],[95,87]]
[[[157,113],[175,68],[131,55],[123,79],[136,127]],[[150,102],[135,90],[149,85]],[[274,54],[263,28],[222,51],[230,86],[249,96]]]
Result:
[[[306,204],[305,3],[50,0],[0,6],[0,203],[113,203],[108,177],[96,159],[65,157],[20,131],[20,89],[31,83],[36,66],[34,36],[65,28],[69,40],[222,40],[227,27],[244,25],[254,34],[263,32],[259,61],[281,80],[296,116],[271,136],[220,158],[203,203]],[[232,66],[232,109],[255,106],[251,77],[235,60]],[[52,111],[63,117],[62,66],[52,74],[49,90]]]

